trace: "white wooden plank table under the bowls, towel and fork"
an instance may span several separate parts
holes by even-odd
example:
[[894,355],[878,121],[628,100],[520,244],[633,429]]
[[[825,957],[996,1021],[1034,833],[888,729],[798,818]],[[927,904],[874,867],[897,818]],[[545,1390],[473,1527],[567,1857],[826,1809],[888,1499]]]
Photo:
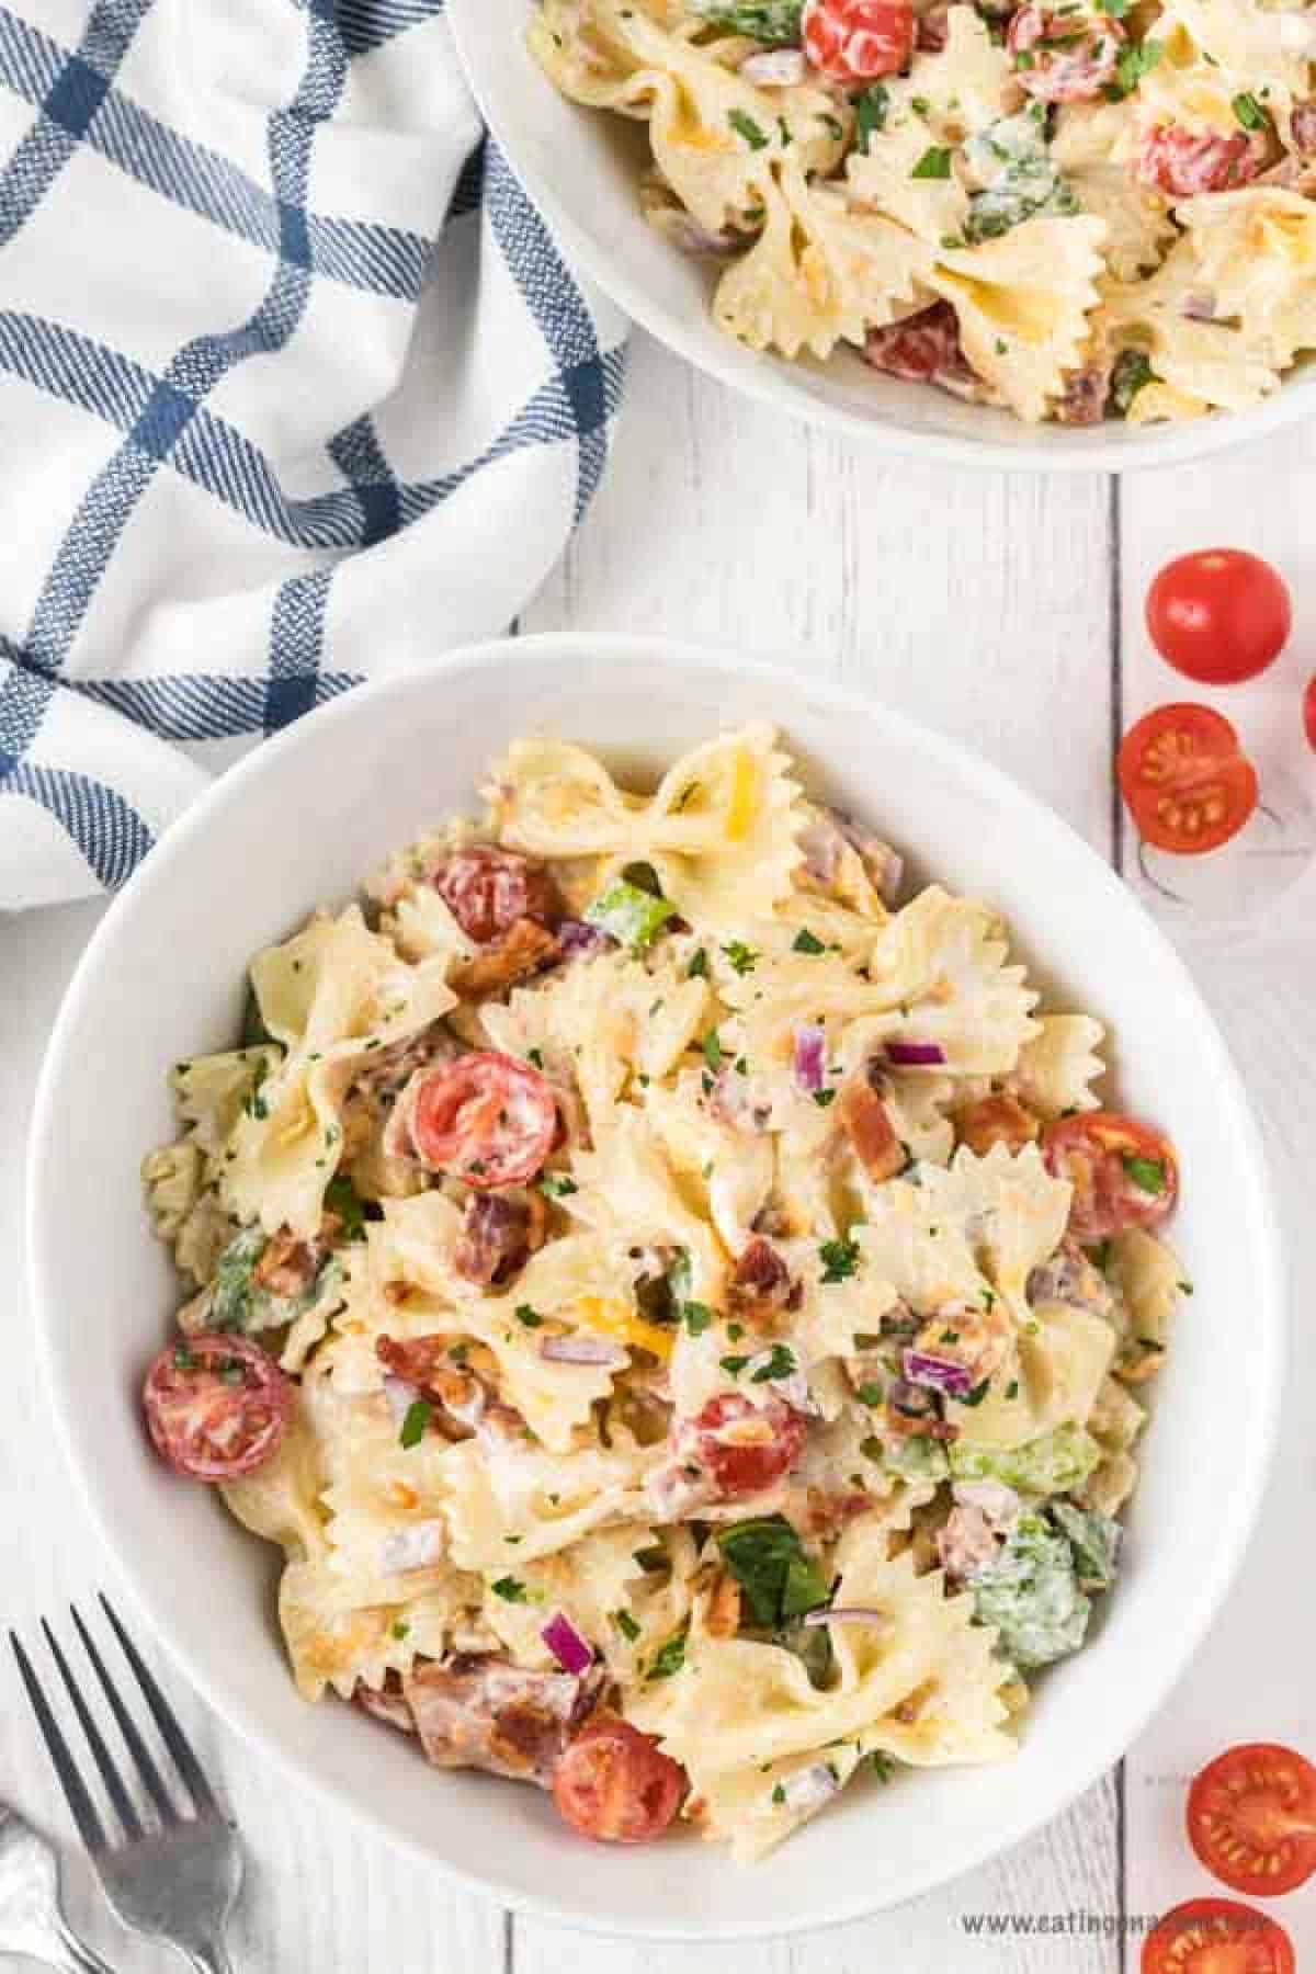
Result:
[[[1146,582],[1182,549],[1237,543],[1286,570],[1298,634],[1245,719],[1265,748],[1282,744],[1290,782],[1306,770],[1308,794],[1316,790],[1316,758],[1304,764],[1294,744],[1300,685],[1316,669],[1312,513],[1316,422],[1261,448],[1123,484],[933,472],[785,424],[635,338],[627,417],[604,490],[521,628],[663,630],[793,655],[801,667],[862,685],[969,740],[1121,861],[1111,736],[1144,707],[1186,697],[1142,632]],[[1300,803],[1300,788],[1290,786],[1286,799]],[[20,1629],[107,1581],[51,1445],[22,1287],[32,1090],[97,912],[77,906],[0,920],[0,1255],[8,1281],[0,1581],[6,1621]],[[1269,914],[1259,940],[1206,940],[1192,949],[1271,1147],[1292,1265],[1294,1364],[1282,1449],[1249,1563],[1192,1674],[1129,1759],[1034,1842],[898,1913],[744,1948],[649,1948],[564,1933],[450,1889],[292,1792],[166,1668],[247,1838],[249,1883],[233,1946],[243,1974],[1136,1968],[1138,1938],[1133,1933],[1121,1944],[1121,1921],[1211,1889],[1182,1838],[1192,1771],[1241,1739],[1284,1739],[1316,1755],[1316,1362],[1302,1350],[1316,1311],[1310,900],[1306,928],[1296,918],[1296,908],[1286,918]],[[1241,1309],[1241,1346],[1247,1323]],[[180,1585],[180,1595],[197,1589]],[[6,1664],[0,1694],[0,1794],[12,1792],[67,1844],[63,1804]],[[590,1867],[582,1854],[582,1869]],[[116,1968],[154,1974],[178,1964],[116,1933],[81,1869],[69,1875],[75,1921]],[[1008,1931],[971,1936],[965,1915],[979,1913],[988,1915],[987,1929]],[[1280,1901],[1280,1917],[1298,1958],[1316,1966],[1316,1887]]]

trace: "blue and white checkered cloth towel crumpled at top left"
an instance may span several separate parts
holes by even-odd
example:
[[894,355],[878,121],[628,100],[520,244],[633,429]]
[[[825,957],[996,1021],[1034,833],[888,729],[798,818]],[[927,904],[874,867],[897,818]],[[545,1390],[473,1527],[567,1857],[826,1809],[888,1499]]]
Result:
[[556,561],[623,324],[481,136],[442,0],[0,0],[0,908]]

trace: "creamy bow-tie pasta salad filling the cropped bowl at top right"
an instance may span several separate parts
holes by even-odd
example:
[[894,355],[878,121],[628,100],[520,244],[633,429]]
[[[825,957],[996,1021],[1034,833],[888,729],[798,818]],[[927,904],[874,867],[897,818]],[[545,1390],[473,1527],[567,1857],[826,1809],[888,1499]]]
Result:
[[1239,411],[1316,345],[1310,0],[539,0],[728,336],[1018,418]]

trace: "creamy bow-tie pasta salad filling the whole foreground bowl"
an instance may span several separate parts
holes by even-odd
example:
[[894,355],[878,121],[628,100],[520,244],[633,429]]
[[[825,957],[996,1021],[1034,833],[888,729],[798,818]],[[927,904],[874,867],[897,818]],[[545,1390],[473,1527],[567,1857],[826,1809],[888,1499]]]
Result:
[[174,1066],[146,1423],[284,1550],[306,1700],[752,1860],[860,1771],[1010,1755],[1083,1644],[1174,1151],[773,728],[653,794],[533,736],[485,796]]

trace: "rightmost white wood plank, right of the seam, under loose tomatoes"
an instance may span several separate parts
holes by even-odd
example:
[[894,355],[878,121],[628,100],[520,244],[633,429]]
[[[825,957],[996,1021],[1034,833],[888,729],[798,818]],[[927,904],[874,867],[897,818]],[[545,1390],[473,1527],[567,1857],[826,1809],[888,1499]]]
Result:
[[[1166,922],[1213,1005],[1259,1107],[1290,1261],[1292,1362],[1271,1490],[1243,1575],[1190,1678],[1131,1749],[1125,1765],[1129,1911],[1162,1911],[1209,1893],[1184,1836],[1184,1790],[1194,1771],[1237,1741],[1284,1741],[1316,1757],[1316,1601],[1306,1583],[1316,1518],[1316,1372],[1308,1332],[1316,1305],[1316,1218],[1310,1145],[1316,1115],[1316,916],[1314,831],[1304,799],[1316,796],[1316,762],[1300,728],[1300,695],[1316,669],[1316,426],[1267,446],[1225,454],[1198,470],[1131,480],[1121,495],[1125,701],[1134,719],[1172,699],[1202,699],[1225,713],[1257,762],[1261,799],[1282,825],[1249,839],[1253,920],[1219,932],[1209,916]],[[1261,679],[1209,691],[1180,679],[1150,645],[1142,598],[1174,555],[1213,545],[1245,547],[1280,569],[1294,596],[1294,636]],[[1279,853],[1279,855],[1277,855]],[[1136,863],[1133,882],[1142,892]],[[1277,871],[1279,865],[1279,871]],[[1306,873],[1306,896],[1267,902],[1280,878]],[[1162,910],[1152,894],[1150,904]],[[1184,1309],[1192,1323],[1192,1305]],[[1247,1311],[1239,1311],[1247,1348]],[[1306,1530],[1306,1538],[1298,1532]],[[1298,1964],[1316,1956],[1312,1887],[1269,1907],[1292,1935]],[[1131,1964],[1134,1964],[1131,1960]]]

